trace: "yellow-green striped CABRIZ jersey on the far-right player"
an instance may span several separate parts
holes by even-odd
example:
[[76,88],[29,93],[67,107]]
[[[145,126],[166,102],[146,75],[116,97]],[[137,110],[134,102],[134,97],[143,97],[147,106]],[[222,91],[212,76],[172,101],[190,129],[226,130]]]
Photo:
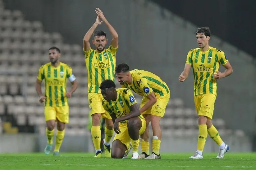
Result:
[[200,48],[189,51],[186,63],[193,68],[194,96],[208,93],[217,95],[217,82],[213,74],[219,70],[220,63],[225,65],[227,61],[225,53],[213,47],[205,52]]

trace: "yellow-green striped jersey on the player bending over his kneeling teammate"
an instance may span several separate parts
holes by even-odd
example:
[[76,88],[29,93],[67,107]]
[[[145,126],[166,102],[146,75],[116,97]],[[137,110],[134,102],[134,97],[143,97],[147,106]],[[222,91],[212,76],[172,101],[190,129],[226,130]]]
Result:
[[149,95],[152,90],[156,97],[164,97],[170,93],[167,84],[157,75],[144,70],[131,70],[132,84],[127,82],[122,87],[131,89],[141,96]]

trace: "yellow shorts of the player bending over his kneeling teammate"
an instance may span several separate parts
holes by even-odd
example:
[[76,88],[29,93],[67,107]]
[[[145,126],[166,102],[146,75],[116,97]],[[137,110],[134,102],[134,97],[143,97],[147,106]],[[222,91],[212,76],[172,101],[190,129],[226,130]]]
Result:
[[[155,115],[155,116],[160,116],[163,117],[165,113],[165,109],[167,106],[167,103],[169,102],[170,99],[170,93],[165,94],[166,96],[164,97],[157,97],[157,102],[150,107],[148,110],[144,111],[142,115]],[[143,107],[149,99],[145,96],[142,97],[140,108]]]

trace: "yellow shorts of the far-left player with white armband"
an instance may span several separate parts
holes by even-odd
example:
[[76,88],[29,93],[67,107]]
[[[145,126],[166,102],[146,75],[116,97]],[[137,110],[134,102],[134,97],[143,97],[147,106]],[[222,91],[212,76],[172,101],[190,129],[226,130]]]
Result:
[[56,120],[56,118],[63,123],[68,123],[69,115],[69,106],[53,107],[45,106],[44,107],[44,116],[45,121]]

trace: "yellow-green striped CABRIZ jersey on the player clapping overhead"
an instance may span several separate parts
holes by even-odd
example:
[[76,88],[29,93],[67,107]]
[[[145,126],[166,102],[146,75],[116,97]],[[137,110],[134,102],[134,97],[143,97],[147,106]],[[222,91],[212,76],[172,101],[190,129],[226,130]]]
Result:
[[93,49],[84,51],[85,64],[88,72],[88,92],[100,93],[99,86],[102,81],[115,81],[114,72],[117,48],[113,48],[110,45],[100,53]]

